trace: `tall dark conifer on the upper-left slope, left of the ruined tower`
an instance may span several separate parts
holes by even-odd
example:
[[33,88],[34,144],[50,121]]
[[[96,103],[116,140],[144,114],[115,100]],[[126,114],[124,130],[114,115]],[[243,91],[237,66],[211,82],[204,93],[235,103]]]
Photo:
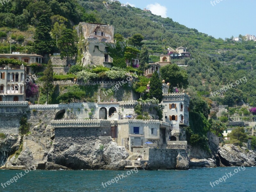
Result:
[[49,53],[53,47],[51,28],[50,14],[42,15],[35,32],[35,50],[42,55]]

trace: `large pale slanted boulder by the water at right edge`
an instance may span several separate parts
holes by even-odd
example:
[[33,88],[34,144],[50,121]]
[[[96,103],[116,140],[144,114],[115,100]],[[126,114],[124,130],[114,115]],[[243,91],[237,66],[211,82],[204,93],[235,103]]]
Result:
[[220,161],[225,166],[255,166],[256,154],[244,147],[226,144],[218,151]]

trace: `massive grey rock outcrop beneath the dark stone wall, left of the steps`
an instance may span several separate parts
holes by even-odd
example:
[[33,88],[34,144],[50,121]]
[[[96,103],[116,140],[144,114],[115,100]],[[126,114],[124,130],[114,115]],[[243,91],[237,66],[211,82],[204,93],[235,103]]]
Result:
[[71,169],[123,170],[127,157],[111,137],[66,137],[54,139],[47,161]]

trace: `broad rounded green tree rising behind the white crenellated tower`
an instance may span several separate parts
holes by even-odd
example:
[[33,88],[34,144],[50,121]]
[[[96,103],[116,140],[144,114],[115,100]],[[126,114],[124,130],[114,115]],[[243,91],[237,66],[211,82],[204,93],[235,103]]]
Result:
[[176,64],[166,65],[160,68],[160,74],[165,82],[170,83],[170,90],[173,87],[186,89],[188,87],[188,74]]

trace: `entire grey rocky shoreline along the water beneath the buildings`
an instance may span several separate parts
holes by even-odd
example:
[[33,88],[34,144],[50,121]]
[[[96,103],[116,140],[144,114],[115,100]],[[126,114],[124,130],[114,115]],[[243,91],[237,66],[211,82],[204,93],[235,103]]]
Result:
[[[219,147],[216,135],[209,133],[208,137],[212,154],[194,148],[191,150],[196,151],[197,156],[192,153],[189,159],[187,155],[179,153],[173,169],[256,166],[254,151],[232,144]],[[45,170],[124,170],[125,166],[132,166],[132,162],[127,159],[129,155],[125,148],[105,137],[66,137],[61,140],[55,138],[49,149],[41,155],[43,159],[39,163],[44,164]],[[18,134],[7,134],[6,138],[0,140],[1,169],[10,169],[12,166],[31,167],[38,163],[35,157],[35,152],[24,146],[24,137],[22,140]],[[148,161],[134,162],[134,166],[141,165],[144,170],[151,170]]]

